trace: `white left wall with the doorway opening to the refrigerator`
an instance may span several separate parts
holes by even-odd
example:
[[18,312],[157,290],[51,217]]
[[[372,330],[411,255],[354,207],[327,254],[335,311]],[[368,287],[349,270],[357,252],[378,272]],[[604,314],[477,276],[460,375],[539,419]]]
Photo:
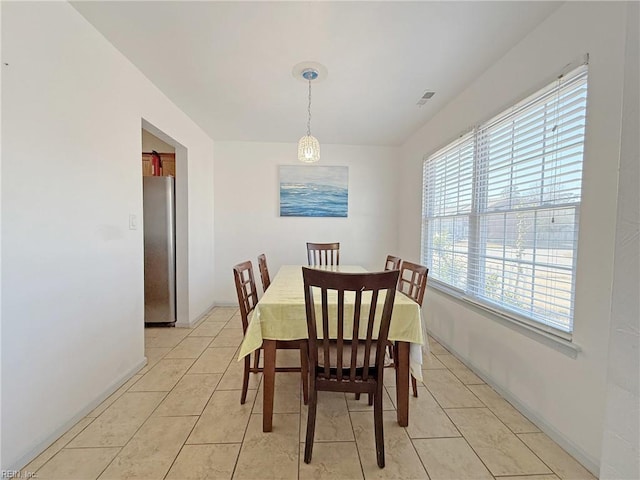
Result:
[[187,151],[189,316],[212,303],[213,142],[73,7],[2,2],[2,469],[144,361],[141,119]]

